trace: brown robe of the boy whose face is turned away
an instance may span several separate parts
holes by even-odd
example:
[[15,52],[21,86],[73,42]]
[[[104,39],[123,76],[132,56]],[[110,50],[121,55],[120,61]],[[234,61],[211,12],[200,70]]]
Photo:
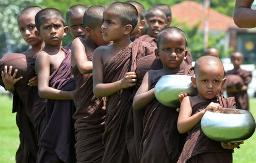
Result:
[[[90,42],[81,39],[86,49],[89,49]],[[93,54],[87,54],[89,61],[92,61]],[[76,90],[74,103],[76,107],[73,118],[75,119],[75,153],[77,162],[102,161],[105,151],[102,137],[105,130],[105,101],[96,98],[93,94],[92,73],[81,74],[77,66],[72,68],[75,77]]]

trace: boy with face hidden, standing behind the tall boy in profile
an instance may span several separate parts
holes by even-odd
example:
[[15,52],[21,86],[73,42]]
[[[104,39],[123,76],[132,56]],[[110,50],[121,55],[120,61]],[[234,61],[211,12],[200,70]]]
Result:
[[77,162],[102,161],[105,151],[102,135],[106,116],[105,103],[93,94],[92,57],[98,46],[108,44],[103,40],[101,25],[105,7],[91,6],[83,15],[86,38],[75,38],[72,42],[72,73],[76,91],[74,103],[75,152]]

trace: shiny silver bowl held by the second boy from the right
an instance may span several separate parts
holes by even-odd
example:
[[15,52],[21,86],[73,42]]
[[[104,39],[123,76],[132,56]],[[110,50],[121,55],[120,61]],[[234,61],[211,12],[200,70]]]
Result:
[[170,74],[162,76],[155,85],[156,99],[163,105],[179,108],[179,93],[190,96],[197,94],[197,89],[192,86],[191,76]]

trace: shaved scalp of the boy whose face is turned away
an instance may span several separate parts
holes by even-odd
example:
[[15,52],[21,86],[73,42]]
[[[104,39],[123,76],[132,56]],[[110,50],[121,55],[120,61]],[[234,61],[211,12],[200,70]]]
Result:
[[96,26],[102,24],[103,12],[105,7],[103,6],[91,6],[83,15],[83,25],[90,26],[90,28],[95,29]]

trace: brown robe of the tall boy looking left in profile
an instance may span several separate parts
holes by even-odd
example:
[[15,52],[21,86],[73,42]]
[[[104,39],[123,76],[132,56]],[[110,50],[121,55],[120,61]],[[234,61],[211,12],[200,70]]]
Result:
[[[147,49],[151,49],[147,52]],[[153,50],[152,50],[153,49]],[[155,46],[141,40],[135,40],[130,46],[122,49],[104,65],[104,83],[118,81],[129,71],[135,71],[137,62],[145,55],[153,54]],[[129,110],[132,106],[133,87],[119,90],[107,97],[106,120],[103,142],[105,153],[103,162],[132,162],[127,151],[126,125]]]

